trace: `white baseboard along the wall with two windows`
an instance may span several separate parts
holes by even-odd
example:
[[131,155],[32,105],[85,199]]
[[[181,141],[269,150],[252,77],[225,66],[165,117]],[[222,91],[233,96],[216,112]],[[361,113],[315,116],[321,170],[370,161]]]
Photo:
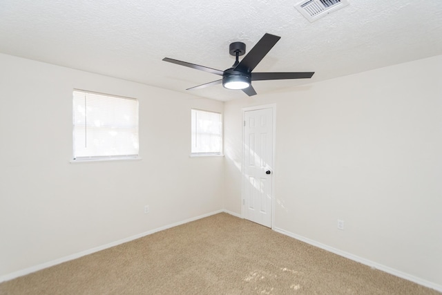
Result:
[[32,267],[27,267],[26,269],[21,269],[21,270],[19,270],[17,272],[12,272],[10,274],[6,274],[6,275],[3,275],[3,276],[0,276],[0,283],[4,282],[6,280],[12,280],[14,278],[18,278],[19,276],[25,276],[26,274],[30,274],[32,272],[37,272],[37,271],[39,271],[41,269],[45,269],[45,268],[48,268],[48,267],[52,267],[54,265],[58,265],[60,263],[65,263],[66,261],[74,260],[74,259],[80,258],[81,256],[86,256],[88,254],[93,254],[93,253],[95,253],[97,251],[102,251],[104,249],[115,247],[115,246],[123,244],[125,242],[130,242],[131,240],[136,240],[137,238],[142,238],[144,236],[148,236],[150,234],[154,234],[157,231],[163,231],[164,229],[170,229],[171,227],[177,227],[178,225],[184,225],[184,223],[195,221],[195,220],[198,220],[198,219],[201,219],[201,218],[205,218],[205,217],[208,217],[208,216],[212,216],[212,215],[215,215],[215,214],[218,214],[218,213],[222,213],[222,212],[226,212],[226,213],[229,213],[231,215],[234,215],[234,213],[230,213],[228,211],[218,210],[218,211],[213,211],[213,212],[206,213],[206,214],[203,214],[203,215],[200,215],[200,216],[196,216],[196,217],[193,217],[193,218],[189,218],[189,219],[186,219],[186,220],[182,220],[180,222],[175,222],[175,223],[172,223],[171,225],[166,225],[164,227],[158,227],[157,229],[151,229],[150,231],[144,231],[144,233],[137,234],[135,236],[130,236],[130,237],[124,238],[122,240],[117,240],[115,242],[110,242],[110,243],[108,243],[106,245],[94,247],[92,249],[81,251],[79,253],[75,253],[75,254],[72,254],[72,255],[64,256],[64,257],[61,257],[61,258],[58,258],[58,259],[55,259],[55,260],[48,261],[46,263],[41,263],[39,265],[34,265]]

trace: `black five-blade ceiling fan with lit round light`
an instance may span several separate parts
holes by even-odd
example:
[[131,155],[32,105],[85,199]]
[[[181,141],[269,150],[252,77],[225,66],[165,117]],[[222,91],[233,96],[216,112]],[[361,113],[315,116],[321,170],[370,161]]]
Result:
[[164,61],[169,61],[172,64],[179,64],[197,70],[204,70],[204,72],[212,73],[222,76],[222,79],[202,84],[199,86],[187,88],[186,90],[200,89],[207,86],[222,84],[224,88],[240,89],[249,96],[256,95],[255,89],[251,86],[252,81],[260,80],[279,80],[279,79],[305,79],[311,78],[314,72],[300,72],[300,73],[252,73],[253,68],[258,66],[260,61],[269,53],[271,48],[275,46],[276,42],[281,37],[266,33],[258,43],[251,48],[250,52],[239,61],[238,57],[246,53],[246,44],[242,42],[233,42],[229,46],[229,53],[236,57],[235,64],[227,70],[216,70],[215,68],[208,68],[206,66],[199,66],[198,64],[191,64],[186,61],[171,59],[164,57]]

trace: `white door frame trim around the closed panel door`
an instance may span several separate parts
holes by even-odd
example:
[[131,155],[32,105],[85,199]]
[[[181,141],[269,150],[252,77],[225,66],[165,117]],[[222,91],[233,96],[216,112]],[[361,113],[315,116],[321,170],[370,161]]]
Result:
[[241,144],[242,144],[242,160],[241,160],[241,218],[244,219],[244,200],[245,200],[245,186],[244,186],[244,178],[245,178],[245,170],[244,170],[244,161],[245,161],[245,150],[244,150],[244,119],[245,119],[245,113],[247,111],[258,111],[258,110],[262,110],[265,108],[270,108],[271,109],[271,124],[272,124],[272,131],[273,131],[273,138],[271,139],[271,144],[273,146],[272,149],[272,155],[271,155],[271,162],[272,162],[272,168],[271,168],[271,173],[272,173],[272,178],[271,178],[271,229],[273,229],[274,224],[275,224],[275,178],[276,178],[276,174],[275,174],[275,151],[276,151],[276,104],[262,104],[259,106],[248,106],[246,108],[242,108],[242,120],[241,120],[241,125],[242,125],[242,137],[241,137]]

